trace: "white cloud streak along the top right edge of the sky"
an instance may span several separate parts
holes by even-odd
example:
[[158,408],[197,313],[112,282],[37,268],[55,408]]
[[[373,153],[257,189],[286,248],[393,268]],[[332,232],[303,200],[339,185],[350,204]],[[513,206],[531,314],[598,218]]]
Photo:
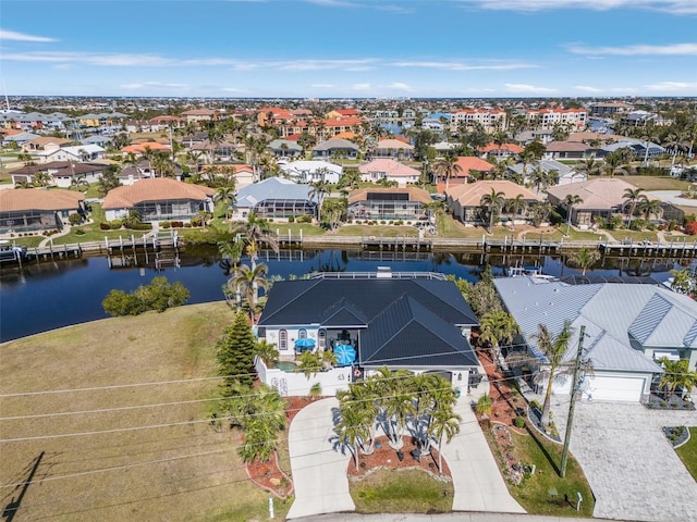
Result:
[[546,11],[552,9],[583,9],[609,11],[612,9],[644,9],[672,14],[697,14],[695,0],[455,0],[463,5],[475,5],[499,11]]

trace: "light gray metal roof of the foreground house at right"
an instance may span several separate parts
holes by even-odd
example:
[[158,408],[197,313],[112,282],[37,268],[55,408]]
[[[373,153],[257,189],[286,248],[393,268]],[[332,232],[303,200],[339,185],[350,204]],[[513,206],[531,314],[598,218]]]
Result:
[[575,332],[567,360],[575,355],[580,326],[586,326],[584,346],[597,370],[660,372],[649,357],[633,348],[633,339],[646,347],[675,348],[697,337],[697,303],[660,285],[568,285],[534,277],[498,278],[494,285],[540,360],[545,357],[534,339],[540,323],[557,335],[565,320],[572,322]]

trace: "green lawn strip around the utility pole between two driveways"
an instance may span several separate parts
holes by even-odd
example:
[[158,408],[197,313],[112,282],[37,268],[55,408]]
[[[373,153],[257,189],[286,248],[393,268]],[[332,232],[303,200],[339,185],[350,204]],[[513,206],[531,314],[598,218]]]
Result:
[[[557,473],[561,462],[560,445],[540,435],[512,433],[512,437],[519,461],[536,467],[535,474],[523,478],[519,485],[509,484],[509,492],[527,512],[553,517],[592,517],[595,502],[590,486],[572,456],[566,464],[566,476],[561,478]],[[550,458],[554,464],[550,462]],[[551,489],[557,490],[555,497],[550,496]],[[579,492],[584,499],[578,512],[576,511],[576,492]]]

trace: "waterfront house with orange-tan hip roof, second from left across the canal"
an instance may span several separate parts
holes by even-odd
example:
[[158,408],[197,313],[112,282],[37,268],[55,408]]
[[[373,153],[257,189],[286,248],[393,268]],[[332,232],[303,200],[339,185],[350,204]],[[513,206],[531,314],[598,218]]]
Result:
[[216,190],[169,177],[140,179],[109,190],[102,209],[108,221],[121,220],[135,210],[145,222],[191,221],[198,212],[213,211]]

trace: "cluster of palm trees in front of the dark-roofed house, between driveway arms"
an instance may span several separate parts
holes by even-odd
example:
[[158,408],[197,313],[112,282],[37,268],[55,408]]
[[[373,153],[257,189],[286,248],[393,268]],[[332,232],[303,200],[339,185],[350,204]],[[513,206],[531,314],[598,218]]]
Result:
[[442,443],[449,443],[460,432],[462,420],[454,411],[457,395],[450,382],[440,375],[383,368],[366,381],[351,384],[337,397],[338,442],[350,448],[356,469],[359,453],[375,451],[381,431],[396,451],[403,447],[406,433],[417,440],[421,455],[428,455],[437,443],[438,469],[442,472]]

